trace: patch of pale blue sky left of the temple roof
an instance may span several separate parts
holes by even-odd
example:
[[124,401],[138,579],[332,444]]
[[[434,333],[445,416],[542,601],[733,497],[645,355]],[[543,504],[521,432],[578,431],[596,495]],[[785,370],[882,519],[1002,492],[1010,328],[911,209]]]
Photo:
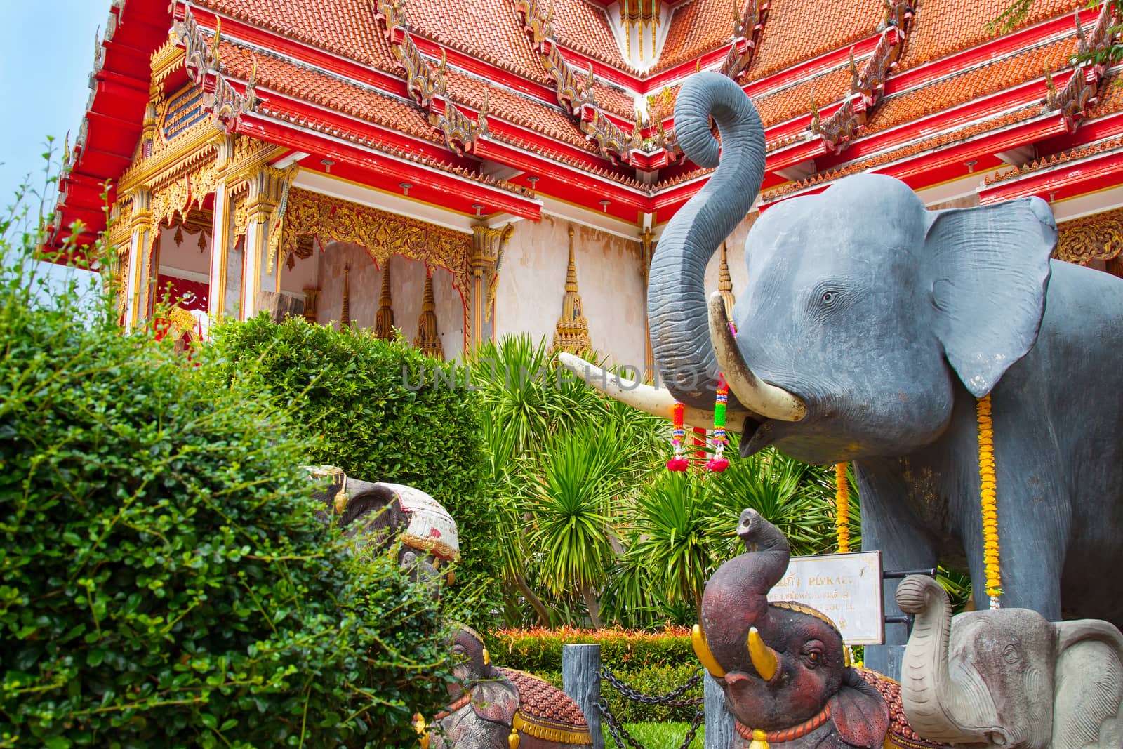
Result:
[[[46,136],[77,133],[93,38],[110,0],[0,0],[0,207],[28,172],[43,183]],[[52,198],[53,202],[53,198]]]

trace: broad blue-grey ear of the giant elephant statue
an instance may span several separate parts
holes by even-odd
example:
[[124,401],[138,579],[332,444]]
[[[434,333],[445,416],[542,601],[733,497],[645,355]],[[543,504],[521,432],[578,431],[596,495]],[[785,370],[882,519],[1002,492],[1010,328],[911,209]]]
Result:
[[930,217],[935,334],[964,385],[983,398],[1037,342],[1057,223],[1040,198]]

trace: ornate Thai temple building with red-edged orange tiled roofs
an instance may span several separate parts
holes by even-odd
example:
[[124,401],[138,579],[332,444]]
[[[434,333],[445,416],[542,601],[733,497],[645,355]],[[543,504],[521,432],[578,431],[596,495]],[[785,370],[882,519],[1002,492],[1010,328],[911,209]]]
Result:
[[674,135],[699,70],[766,127],[710,268],[730,300],[760,211],[862,171],[932,208],[1039,195],[1061,259],[1123,275],[1120,68],[1074,62],[1113,42],[1107,3],[1037,0],[1003,35],[1008,0],[107,4],[54,240],[108,232],[129,326],[171,289],[199,320],[284,309],[445,358],[528,331],[649,367],[648,262],[710,175]]

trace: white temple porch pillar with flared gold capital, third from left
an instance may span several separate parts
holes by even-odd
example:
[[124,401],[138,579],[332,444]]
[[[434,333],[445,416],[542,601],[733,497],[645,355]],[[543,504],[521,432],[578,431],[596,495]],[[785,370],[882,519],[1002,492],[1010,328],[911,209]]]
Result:
[[281,291],[281,264],[270,253],[270,223],[290,179],[289,172],[271,166],[261,166],[248,177],[246,264],[241,276],[243,320],[257,313],[258,291]]

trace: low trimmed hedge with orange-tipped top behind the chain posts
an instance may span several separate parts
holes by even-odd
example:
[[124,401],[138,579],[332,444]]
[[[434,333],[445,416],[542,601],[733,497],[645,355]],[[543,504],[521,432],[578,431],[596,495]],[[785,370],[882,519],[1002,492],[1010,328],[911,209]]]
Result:
[[[690,634],[676,628],[664,632],[630,630],[526,629],[493,630],[484,640],[499,666],[536,674],[562,687],[562,648],[597,642],[601,663],[624,684],[648,695],[661,695],[684,684],[699,669]],[[626,722],[691,721],[694,707],[661,707],[624,700],[608,683],[601,692],[614,715]],[[701,697],[702,684],[686,697]]]

